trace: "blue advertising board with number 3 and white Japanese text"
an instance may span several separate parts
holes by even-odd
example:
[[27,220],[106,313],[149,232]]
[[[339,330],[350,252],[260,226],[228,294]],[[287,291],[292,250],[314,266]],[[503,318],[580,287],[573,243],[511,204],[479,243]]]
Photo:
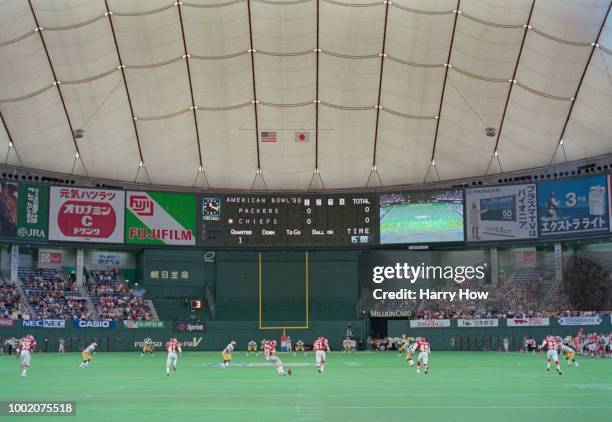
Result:
[[538,184],[540,236],[607,233],[610,230],[606,176]]

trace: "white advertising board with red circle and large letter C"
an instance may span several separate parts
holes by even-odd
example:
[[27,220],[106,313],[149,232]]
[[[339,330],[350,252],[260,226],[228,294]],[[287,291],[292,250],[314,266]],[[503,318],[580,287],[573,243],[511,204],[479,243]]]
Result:
[[52,186],[49,240],[123,242],[125,192]]

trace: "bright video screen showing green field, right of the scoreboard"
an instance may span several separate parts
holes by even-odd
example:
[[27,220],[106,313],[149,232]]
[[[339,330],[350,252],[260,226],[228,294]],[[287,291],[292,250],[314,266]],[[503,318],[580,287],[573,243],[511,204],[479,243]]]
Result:
[[450,202],[396,204],[380,221],[381,243],[463,240],[463,205]]

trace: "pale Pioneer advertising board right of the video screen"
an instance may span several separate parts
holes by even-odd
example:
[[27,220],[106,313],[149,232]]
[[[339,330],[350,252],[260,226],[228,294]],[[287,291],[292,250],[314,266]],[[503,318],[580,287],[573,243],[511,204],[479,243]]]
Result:
[[538,237],[535,183],[467,189],[465,194],[468,242]]

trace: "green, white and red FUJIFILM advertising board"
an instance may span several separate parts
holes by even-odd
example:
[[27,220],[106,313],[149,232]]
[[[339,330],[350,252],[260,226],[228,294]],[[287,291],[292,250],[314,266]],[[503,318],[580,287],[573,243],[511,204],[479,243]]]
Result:
[[125,242],[139,245],[196,243],[196,196],[171,192],[128,192]]

